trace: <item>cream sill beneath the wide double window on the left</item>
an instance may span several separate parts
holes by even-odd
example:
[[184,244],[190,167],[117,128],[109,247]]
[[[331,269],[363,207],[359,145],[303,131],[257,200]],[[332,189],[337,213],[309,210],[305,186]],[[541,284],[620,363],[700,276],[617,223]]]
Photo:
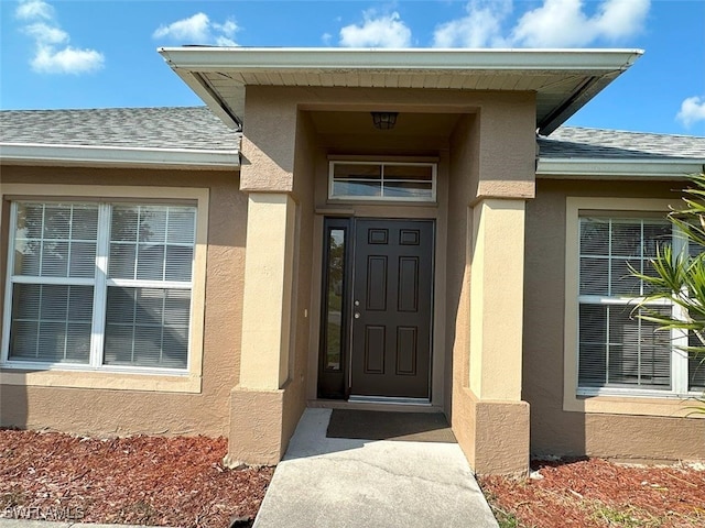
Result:
[[26,371],[3,366],[0,370],[0,385],[198,394],[200,376],[86,370]]

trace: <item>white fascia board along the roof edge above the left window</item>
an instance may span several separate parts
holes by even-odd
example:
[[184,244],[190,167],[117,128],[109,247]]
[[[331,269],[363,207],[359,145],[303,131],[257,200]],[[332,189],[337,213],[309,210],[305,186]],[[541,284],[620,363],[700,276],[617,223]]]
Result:
[[0,143],[0,163],[89,167],[238,169],[238,150]]

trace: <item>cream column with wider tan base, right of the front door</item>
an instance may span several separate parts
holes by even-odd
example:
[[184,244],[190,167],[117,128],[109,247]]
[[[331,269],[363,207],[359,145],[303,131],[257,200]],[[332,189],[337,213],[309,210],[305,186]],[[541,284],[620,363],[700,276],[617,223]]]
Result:
[[530,444],[529,404],[521,400],[524,200],[485,198],[471,212],[468,377],[467,388],[455,387],[454,430],[478,474],[525,475]]

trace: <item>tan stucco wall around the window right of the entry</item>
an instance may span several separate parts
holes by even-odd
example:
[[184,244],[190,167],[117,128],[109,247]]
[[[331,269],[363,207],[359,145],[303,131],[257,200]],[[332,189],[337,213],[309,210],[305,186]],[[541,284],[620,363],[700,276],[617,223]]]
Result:
[[[702,419],[563,410],[566,197],[670,200],[681,186],[679,182],[538,180],[536,198],[527,205],[522,393],[531,405],[534,454],[705,457]],[[632,400],[643,407],[639,404],[643,398]]]

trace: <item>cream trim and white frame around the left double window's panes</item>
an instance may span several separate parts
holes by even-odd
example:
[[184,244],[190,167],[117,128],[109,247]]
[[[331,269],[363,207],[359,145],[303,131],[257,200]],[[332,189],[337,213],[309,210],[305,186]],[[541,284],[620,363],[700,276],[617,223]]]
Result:
[[[203,370],[203,332],[205,315],[205,272],[207,250],[207,221],[208,221],[207,188],[189,187],[122,187],[122,186],[72,186],[72,185],[33,185],[33,184],[3,184],[2,201],[0,202],[0,218],[8,219],[7,228],[2,228],[7,237],[8,255],[3,258],[6,271],[2,299],[2,342],[0,343],[0,383],[14,385],[55,385],[86,388],[126,388],[126,389],[153,389],[165,392],[200,392],[200,378]],[[105,365],[102,364],[105,339],[105,322],[108,284],[107,277],[108,253],[97,250],[96,262],[102,273],[96,273],[91,283],[95,283],[94,311],[102,310],[101,317],[94,315],[93,321],[100,320],[101,328],[91,327],[91,333],[99,333],[99,345],[93,345],[89,363],[58,363],[58,362],[29,362],[12,361],[9,355],[9,330],[12,319],[12,273],[11,265],[14,261],[14,230],[17,226],[17,202],[97,202],[99,210],[107,210],[113,205],[170,205],[192,206],[196,209],[195,243],[192,264],[191,301],[189,301],[189,330],[186,354],[186,366],[183,369],[134,365]],[[106,205],[104,209],[102,205]],[[9,212],[9,215],[8,215]],[[110,215],[100,217],[99,226],[110,222]],[[98,230],[97,246],[104,244],[109,250],[109,229]],[[101,235],[102,239],[101,240]],[[101,256],[99,256],[101,255]],[[63,284],[74,284],[74,278],[59,278]],[[85,280],[85,279],[82,279]],[[118,280],[122,284],[120,280]],[[133,283],[133,280],[128,280]],[[138,280],[139,282],[139,280]],[[101,284],[102,283],[102,284]],[[144,284],[149,280],[143,282]],[[45,284],[43,280],[40,284]],[[156,283],[154,283],[156,285]],[[134,285],[131,285],[134,286]],[[144,287],[144,286],[142,286]],[[160,288],[169,288],[169,282],[159,283]],[[93,342],[93,341],[91,341]],[[94,354],[99,354],[96,356]]]

